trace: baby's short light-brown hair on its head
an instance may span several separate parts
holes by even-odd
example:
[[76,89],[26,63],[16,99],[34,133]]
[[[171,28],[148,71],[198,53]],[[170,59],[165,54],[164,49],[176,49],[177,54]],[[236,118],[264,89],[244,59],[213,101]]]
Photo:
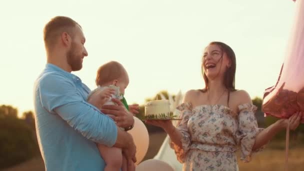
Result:
[[96,85],[102,86],[109,81],[120,78],[125,72],[124,67],[117,61],[109,61],[101,65],[97,70]]

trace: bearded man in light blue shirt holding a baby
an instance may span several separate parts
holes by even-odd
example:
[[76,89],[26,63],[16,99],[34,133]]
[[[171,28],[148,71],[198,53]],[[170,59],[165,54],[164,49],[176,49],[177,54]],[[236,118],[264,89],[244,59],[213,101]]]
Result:
[[[100,100],[81,79],[70,73],[82,68],[87,56],[81,26],[69,17],[56,16],[44,27],[47,64],[35,81],[34,109],[36,132],[46,170],[103,170],[95,142],[122,148],[129,161],[136,161],[131,135],[93,104]],[[122,127],[130,129],[133,116],[123,104],[104,105]]]

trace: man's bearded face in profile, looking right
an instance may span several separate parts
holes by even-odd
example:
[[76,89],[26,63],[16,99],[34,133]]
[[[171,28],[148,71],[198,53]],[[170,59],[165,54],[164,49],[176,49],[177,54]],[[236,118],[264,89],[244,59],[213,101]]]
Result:
[[80,70],[82,68],[83,58],[87,56],[84,42],[85,37],[82,29],[77,25],[74,28],[71,45],[66,54],[67,63],[70,65],[72,71]]

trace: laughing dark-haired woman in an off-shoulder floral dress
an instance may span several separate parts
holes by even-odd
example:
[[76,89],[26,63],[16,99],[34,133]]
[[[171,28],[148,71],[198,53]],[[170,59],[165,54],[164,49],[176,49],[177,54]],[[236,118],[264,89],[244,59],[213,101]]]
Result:
[[234,88],[235,54],[222,42],[211,42],[202,55],[201,69],[205,87],[189,90],[177,109],[181,111],[176,127],[171,121],[148,120],[162,127],[170,137],[170,146],[183,170],[238,170],[235,151],[248,162],[288,122],[299,125],[300,112],[289,119],[277,120],[267,128],[258,128],[256,106],[244,90]]

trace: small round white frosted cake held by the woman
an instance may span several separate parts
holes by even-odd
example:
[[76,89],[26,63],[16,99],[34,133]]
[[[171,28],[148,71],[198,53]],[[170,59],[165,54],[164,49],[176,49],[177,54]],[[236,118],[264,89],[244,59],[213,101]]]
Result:
[[170,115],[170,102],[166,99],[148,101],[144,106],[144,115]]

